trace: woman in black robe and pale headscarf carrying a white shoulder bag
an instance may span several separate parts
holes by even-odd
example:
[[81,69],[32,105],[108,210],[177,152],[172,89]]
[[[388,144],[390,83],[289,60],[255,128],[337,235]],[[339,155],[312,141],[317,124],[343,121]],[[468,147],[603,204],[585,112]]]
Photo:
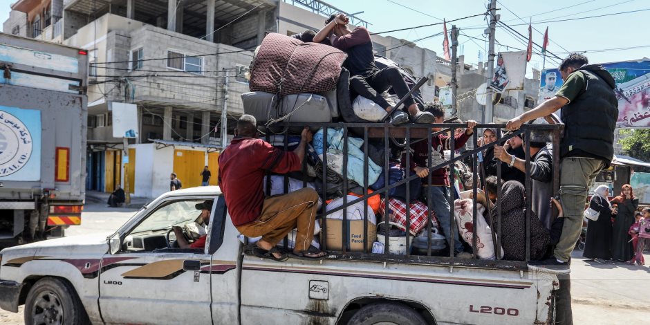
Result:
[[609,187],[600,185],[591,197],[589,207],[600,212],[596,221],[589,220],[587,238],[582,257],[593,259],[597,263],[605,263],[612,258],[612,222],[613,210],[609,203]]

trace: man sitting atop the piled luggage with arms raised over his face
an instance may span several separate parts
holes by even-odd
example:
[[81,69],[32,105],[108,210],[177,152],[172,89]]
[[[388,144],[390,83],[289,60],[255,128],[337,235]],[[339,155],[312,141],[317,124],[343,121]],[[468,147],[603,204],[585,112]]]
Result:
[[[350,30],[348,23],[348,17],[343,14],[331,15],[325,21],[325,27],[316,34],[313,41],[320,43],[329,38],[333,47],[347,53],[348,58],[345,60],[344,66],[352,76],[350,78],[351,89],[356,95],[366,97],[390,112],[393,110],[393,106],[382,97],[382,93],[393,87],[393,91],[402,98],[409,92],[409,87],[398,68],[389,66],[380,70],[375,66],[370,32],[362,26]],[[431,113],[420,111],[413,97],[408,97],[404,105],[413,122],[434,122],[434,116]],[[394,113],[391,117],[393,125],[407,122],[409,122],[409,115],[402,111]]]

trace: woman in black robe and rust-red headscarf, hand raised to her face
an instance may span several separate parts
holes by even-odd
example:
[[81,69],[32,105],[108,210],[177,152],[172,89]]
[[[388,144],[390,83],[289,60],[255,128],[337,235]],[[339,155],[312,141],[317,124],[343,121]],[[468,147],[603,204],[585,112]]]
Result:
[[639,207],[639,199],[634,196],[632,187],[626,184],[622,187],[621,195],[613,198],[611,203],[618,207],[612,231],[612,259],[626,262],[634,256],[628,230],[635,221],[634,212]]

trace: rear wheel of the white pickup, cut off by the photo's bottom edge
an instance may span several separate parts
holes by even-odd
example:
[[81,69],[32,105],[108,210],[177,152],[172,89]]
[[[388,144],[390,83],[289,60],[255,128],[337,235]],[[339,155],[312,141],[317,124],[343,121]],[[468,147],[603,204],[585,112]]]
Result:
[[424,317],[416,310],[396,302],[379,302],[363,306],[348,322],[349,325],[373,325],[378,323],[427,325]]

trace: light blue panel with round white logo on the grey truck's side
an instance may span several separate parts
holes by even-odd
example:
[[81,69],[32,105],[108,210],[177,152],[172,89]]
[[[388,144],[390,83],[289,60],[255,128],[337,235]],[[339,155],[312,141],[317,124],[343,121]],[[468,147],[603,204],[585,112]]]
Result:
[[0,105],[0,180],[41,179],[41,111]]

